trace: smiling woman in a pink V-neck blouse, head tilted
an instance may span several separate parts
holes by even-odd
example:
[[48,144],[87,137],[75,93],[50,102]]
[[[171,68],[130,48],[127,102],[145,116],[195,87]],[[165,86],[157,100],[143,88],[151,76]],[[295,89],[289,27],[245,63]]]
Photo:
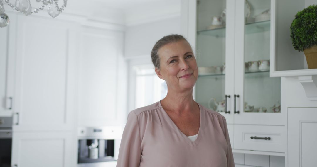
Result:
[[234,167],[225,118],[193,99],[198,67],[187,40],[165,36],[151,57],[167,95],[128,114],[117,167]]

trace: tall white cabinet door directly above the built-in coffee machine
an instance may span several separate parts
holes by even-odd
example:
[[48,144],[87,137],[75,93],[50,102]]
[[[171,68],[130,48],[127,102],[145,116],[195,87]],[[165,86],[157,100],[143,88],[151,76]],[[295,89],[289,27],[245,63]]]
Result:
[[82,29],[78,56],[79,126],[120,126],[118,106],[125,101],[118,100],[123,40],[120,31]]

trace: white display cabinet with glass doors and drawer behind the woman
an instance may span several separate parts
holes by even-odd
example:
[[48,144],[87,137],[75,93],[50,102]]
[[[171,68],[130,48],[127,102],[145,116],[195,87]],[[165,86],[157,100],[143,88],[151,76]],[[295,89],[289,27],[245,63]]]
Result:
[[286,152],[281,78],[270,77],[273,3],[182,1],[184,32],[199,71],[195,100],[225,116],[234,152]]

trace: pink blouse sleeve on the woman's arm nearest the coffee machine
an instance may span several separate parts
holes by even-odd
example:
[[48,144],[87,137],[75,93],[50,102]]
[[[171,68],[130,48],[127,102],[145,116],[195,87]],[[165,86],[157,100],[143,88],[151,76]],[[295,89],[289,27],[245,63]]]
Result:
[[117,167],[139,167],[141,161],[141,139],[137,115],[128,114],[120,143]]

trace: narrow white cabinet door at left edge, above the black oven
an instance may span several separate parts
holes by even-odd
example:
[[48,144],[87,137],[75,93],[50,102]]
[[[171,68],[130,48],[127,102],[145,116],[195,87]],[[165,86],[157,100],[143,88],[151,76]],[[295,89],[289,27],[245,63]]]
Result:
[[[14,19],[16,15],[12,15]],[[0,116],[12,116],[15,78],[14,22],[0,31]],[[13,38],[9,38],[13,37]]]

